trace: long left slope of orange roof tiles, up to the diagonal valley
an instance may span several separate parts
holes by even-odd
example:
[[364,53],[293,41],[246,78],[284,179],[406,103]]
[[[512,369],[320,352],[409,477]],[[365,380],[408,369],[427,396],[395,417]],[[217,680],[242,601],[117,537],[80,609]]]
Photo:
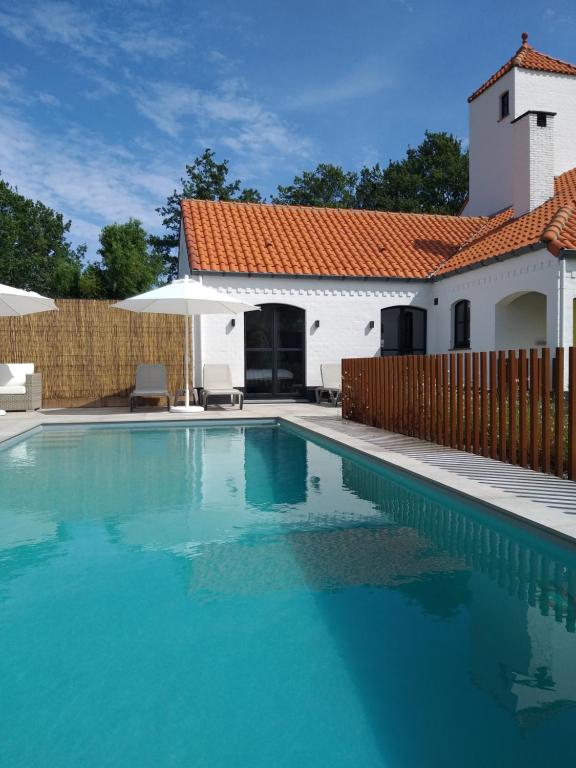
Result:
[[424,278],[482,217],[183,200],[193,270]]

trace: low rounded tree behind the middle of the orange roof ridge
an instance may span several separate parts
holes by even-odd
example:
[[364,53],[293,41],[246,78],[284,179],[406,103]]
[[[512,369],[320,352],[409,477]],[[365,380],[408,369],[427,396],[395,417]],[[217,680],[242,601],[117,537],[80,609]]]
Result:
[[354,208],[358,176],[338,165],[320,163],[313,171],[295,176],[292,184],[278,187],[272,198],[279,205]]

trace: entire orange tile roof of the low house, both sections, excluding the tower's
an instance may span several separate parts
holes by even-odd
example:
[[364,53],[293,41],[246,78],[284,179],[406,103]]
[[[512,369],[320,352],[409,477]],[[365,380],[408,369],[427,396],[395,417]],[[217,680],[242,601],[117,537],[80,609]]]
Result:
[[539,245],[576,249],[576,168],[518,218],[183,200],[182,226],[194,271],[426,279]]

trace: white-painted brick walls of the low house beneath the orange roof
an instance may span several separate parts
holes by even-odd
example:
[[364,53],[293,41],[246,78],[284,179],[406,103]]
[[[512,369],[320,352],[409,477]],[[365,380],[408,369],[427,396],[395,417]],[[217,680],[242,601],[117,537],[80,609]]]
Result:
[[[234,274],[203,275],[202,280],[251,304],[289,304],[305,310],[307,387],[320,384],[321,363],[379,354],[380,311],[385,307],[413,305],[427,310],[430,354],[452,348],[452,308],[461,299],[470,301],[473,351],[529,348],[544,341],[549,347],[570,346],[576,341],[576,255],[558,259],[544,248],[434,282]],[[510,301],[520,296],[527,298],[514,305],[518,311],[501,311],[500,302],[509,309]],[[508,318],[505,328],[498,327],[498,316]],[[222,362],[231,366],[234,385],[244,386],[244,318],[236,316],[234,327],[231,319],[227,315],[195,319],[195,386],[202,386],[203,363]]]

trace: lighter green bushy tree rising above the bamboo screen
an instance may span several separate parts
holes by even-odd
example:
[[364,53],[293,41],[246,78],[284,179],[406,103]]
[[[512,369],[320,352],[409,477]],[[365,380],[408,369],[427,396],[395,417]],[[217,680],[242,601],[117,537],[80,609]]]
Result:
[[152,288],[162,271],[162,260],[150,252],[138,219],[104,227],[98,253],[100,263],[88,265],[80,280],[85,298],[125,299]]

